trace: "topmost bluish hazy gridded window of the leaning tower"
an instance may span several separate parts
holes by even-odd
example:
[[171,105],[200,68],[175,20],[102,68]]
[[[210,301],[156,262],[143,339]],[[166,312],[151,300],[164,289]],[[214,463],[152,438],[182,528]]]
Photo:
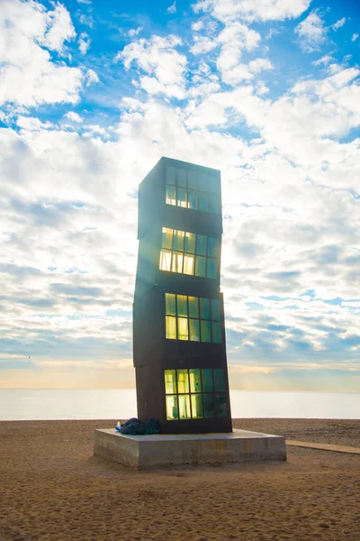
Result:
[[166,205],[220,213],[220,180],[210,173],[198,173],[166,166]]

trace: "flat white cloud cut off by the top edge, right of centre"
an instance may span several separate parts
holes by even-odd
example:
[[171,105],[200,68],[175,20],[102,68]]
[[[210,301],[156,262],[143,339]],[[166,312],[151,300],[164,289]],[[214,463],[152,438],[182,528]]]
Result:
[[195,13],[211,12],[223,23],[229,21],[284,21],[299,17],[311,0],[198,0]]

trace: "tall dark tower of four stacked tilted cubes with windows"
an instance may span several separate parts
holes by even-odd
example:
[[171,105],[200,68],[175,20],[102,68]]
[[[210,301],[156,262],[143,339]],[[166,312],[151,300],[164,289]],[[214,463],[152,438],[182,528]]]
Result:
[[133,358],[163,434],[232,431],[221,234],[220,171],[161,158],[139,185]]

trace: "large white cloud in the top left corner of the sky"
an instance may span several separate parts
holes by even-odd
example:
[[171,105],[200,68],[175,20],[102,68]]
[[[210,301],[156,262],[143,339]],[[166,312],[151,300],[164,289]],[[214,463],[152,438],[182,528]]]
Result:
[[37,2],[4,0],[0,29],[0,105],[76,103],[84,78],[81,69],[51,61],[43,48],[62,54],[64,41],[74,38],[64,6],[46,11]]

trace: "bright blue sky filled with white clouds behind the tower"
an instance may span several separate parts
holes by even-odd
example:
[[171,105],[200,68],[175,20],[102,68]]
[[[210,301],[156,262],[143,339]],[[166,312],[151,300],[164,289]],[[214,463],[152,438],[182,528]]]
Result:
[[0,387],[132,388],[139,182],[219,169],[229,382],[360,391],[357,0],[0,0]]

